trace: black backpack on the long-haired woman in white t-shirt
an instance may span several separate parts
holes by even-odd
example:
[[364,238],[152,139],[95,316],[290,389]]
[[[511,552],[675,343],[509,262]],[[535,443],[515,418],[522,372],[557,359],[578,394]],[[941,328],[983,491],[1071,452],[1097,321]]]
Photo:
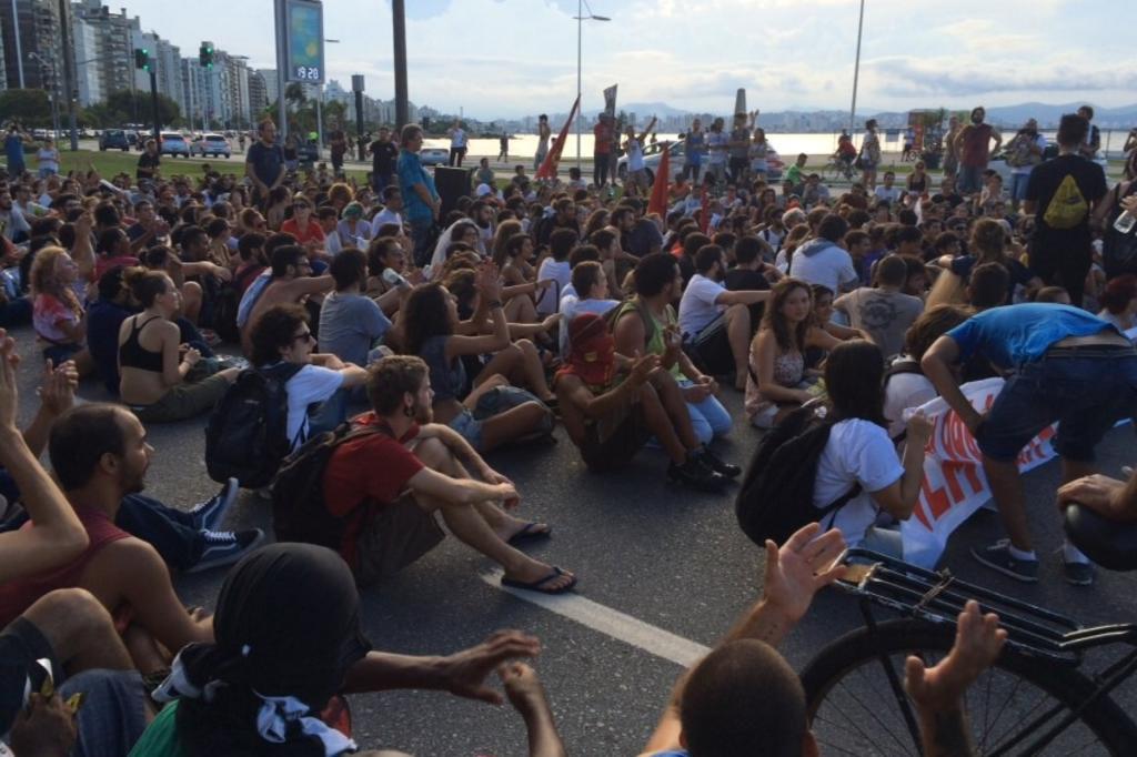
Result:
[[823,508],[813,506],[818,461],[825,450],[833,424],[803,407],[786,417],[762,439],[735,501],[738,525],[750,541],[764,547],[766,539],[785,543],[802,526],[821,521],[861,493],[855,484]]

